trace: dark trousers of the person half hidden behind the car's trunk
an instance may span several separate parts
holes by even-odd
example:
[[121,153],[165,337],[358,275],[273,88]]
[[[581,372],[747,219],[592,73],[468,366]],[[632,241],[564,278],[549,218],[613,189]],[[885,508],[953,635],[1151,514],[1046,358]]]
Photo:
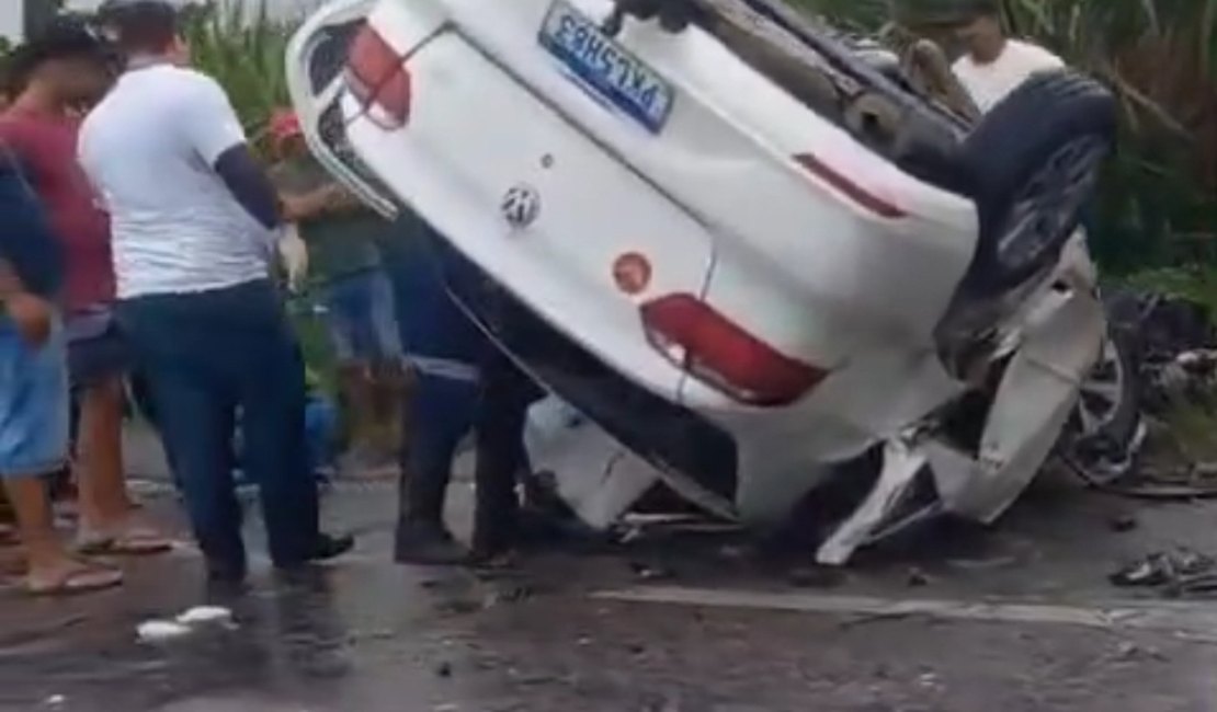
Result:
[[403,524],[443,525],[453,459],[472,430],[477,446],[473,548],[495,550],[515,536],[516,481],[528,462],[525,424],[539,389],[489,344],[479,366],[478,384],[420,375],[402,512]]

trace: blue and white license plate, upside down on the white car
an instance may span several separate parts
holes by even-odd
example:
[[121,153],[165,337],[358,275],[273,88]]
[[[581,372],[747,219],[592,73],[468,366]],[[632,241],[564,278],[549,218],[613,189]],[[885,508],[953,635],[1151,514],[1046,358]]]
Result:
[[557,0],[540,28],[540,44],[594,96],[658,134],[672,111],[672,85],[596,23]]

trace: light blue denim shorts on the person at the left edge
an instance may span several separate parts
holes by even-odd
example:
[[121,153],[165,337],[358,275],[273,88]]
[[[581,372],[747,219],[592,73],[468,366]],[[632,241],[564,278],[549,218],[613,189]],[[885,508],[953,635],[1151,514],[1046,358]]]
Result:
[[0,478],[46,475],[68,457],[68,367],[63,328],[30,347],[0,317]]

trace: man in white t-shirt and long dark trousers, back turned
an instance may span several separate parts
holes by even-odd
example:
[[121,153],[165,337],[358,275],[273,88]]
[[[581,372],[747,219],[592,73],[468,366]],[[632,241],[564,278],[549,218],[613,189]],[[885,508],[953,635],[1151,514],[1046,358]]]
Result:
[[224,90],[186,67],[172,5],[112,0],[101,21],[128,69],[85,119],[79,158],[110,211],[117,316],[208,572],[240,580],[247,569],[230,473],[237,411],[275,565],[336,556],[352,541],[318,529],[303,361],[269,276],[293,208],[279,203]]

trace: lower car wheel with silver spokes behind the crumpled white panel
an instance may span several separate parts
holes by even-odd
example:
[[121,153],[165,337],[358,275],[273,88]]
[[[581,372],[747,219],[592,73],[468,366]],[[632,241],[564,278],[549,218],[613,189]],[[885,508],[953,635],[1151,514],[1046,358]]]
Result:
[[1145,439],[1140,389],[1132,346],[1118,333],[1082,383],[1062,456],[1089,484],[1106,486],[1134,467]]

